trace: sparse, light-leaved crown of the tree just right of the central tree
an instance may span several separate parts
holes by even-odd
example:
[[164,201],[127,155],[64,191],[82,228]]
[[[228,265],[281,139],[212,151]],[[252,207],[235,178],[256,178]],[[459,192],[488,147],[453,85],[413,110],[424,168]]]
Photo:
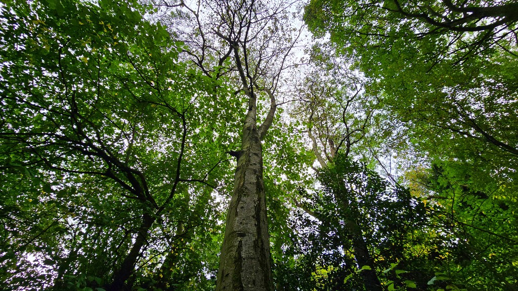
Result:
[[370,130],[377,102],[363,95],[364,80],[342,61],[328,45],[314,44],[307,75],[297,84],[299,102],[292,116],[307,127],[313,154],[321,167],[338,151],[364,160],[369,155],[362,141]]

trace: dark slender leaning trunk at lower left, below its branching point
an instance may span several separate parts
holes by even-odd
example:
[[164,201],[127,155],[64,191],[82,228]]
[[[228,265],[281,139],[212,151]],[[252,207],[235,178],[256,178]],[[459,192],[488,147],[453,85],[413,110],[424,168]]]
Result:
[[149,213],[146,212],[143,214],[142,225],[138,230],[135,243],[133,244],[130,253],[124,258],[120,268],[113,273],[113,281],[106,288],[108,291],[126,290],[125,283],[130,279],[130,276],[135,269],[135,263],[137,262],[142,247],[146,244],[149,229],[154,222],[155,218]]

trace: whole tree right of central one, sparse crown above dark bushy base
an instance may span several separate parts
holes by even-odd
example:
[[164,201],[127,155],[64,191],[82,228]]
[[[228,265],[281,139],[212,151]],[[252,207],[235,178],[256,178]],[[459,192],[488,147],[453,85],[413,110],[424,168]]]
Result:
[[381,270],[403,259],[401,237],[422,223],[424,209],[407,189],[391,185],[365,163],[372,164],[369,142],[375,138],[370,135],[378,102],[364,96],[363,78],[325,47],[314,47],[312,60],[293,111],[294,118],[303,119],[319,164],[314,171],[320,186],[300,189],[295,200],[318,221],[305,223],[312,225],[311,239],[303,243],[311,250],[306,255],[314,257],[310,261],[317,264],[312,268],[321,273],[323,289],[382,290],[390,284]]

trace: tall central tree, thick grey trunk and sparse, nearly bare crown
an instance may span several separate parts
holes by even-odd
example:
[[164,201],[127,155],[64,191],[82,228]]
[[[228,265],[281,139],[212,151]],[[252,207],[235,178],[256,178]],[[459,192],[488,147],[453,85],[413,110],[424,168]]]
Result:
[[[295,2],[296,3],[296,2]],[[240,144],[229,149],[237,159],[228,206],[217,290],[272,290],[270,241],[263,169],[265,136],[283,103],[280,86],[293,66],[292,2],[157,2],[170,13],[172,33],[188,45],[186,59],[211,78],[224,80],[240,99],[244,114],[236,132]],[[165,22],[167,23],[167,22]]]

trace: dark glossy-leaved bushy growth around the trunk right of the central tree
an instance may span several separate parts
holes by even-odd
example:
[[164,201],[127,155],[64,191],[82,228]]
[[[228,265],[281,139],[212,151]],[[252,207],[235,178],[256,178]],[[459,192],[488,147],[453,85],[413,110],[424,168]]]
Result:
[[[319,181],[323,193],[312,195],[307,207],[325,218],[320,235],[331,242],[327,252],[335,252],[334,259],[322,264],[344,269],[333,274],[336,286],[382,290],[415,287],[423,281],[421,268],[406,271],[414,258],[404,250],[410,243],[408,234],[427,221],[424,204],[407,189],[391,185],[365,164],[340,153],[322,169]],[[345,258],[340,258],[340,250]]]

